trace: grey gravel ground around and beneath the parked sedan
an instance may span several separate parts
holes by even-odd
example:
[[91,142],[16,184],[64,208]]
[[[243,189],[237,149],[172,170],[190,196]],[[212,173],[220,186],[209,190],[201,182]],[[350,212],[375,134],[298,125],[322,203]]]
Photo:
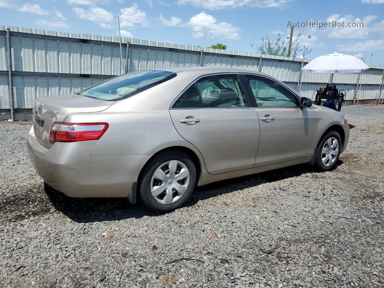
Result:
[[384,287],[384,106],[343,111],[335,170],[210,184],[167,214],[45,192],[31,125],[0,124],[0,286]]

